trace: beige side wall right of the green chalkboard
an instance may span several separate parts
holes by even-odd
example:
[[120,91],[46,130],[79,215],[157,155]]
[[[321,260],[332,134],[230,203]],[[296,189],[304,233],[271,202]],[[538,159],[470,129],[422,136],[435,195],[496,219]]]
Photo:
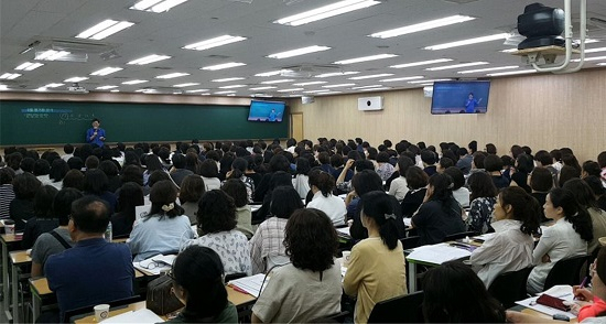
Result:
[[[358,111],[358,97],[378,95],[383,110]],[[304,133],[313,141],[361,137],[375,145],[407,139],[437,147],[475,139],[479,148],[496,144],[499,154],[515,143],[534,152],[570,147],[581,161],[596,160],[606,150],[606,69],[495,79],[485,115],[433,116],[430,106],[421,88],[291,102],[293,112],[304,114]]]

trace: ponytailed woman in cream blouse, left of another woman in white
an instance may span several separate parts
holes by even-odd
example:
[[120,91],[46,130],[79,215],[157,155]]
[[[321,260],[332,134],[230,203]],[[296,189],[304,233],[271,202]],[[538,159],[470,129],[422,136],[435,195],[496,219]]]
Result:
[[477,248],[469,261],[480,267],[478,277],[486,288],[501,273],[532,266],[533,234],[539,230],[541,207],[518,186],[504,188],[495,204],[495,236]]

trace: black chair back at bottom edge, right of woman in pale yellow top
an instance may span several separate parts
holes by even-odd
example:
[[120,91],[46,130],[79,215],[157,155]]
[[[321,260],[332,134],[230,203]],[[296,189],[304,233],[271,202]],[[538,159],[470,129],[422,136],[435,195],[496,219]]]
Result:
[[422,291],[378,302],[368,323],[424,323],[422,304]]

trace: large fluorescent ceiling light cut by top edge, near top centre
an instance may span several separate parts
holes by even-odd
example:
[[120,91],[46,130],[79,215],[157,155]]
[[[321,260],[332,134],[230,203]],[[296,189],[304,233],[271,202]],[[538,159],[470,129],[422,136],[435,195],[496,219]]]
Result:
[[368,8],[379,3],[381,2],[375,0],[345,0],[297,14],[289,15],[286,18],[279,19],[273,23],[296,26],[329,17],[343,14],[346,12]]

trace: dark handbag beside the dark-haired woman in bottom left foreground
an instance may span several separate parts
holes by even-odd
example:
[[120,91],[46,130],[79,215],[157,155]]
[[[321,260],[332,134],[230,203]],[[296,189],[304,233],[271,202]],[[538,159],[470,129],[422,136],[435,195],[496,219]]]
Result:
[[177,311],[185,305],[171,292],[173,280],[170,276],[162,274],[148,283],[148,310],[165,315]]

